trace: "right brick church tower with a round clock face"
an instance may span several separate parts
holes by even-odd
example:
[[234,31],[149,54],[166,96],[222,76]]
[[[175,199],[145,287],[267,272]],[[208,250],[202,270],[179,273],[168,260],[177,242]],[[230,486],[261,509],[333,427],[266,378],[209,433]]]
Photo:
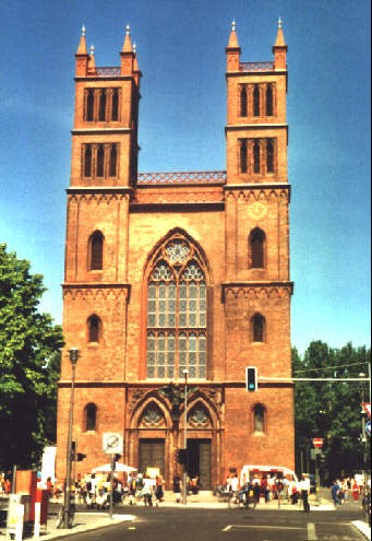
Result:
[[249,463],[284,460],[273,458],[272,434],[293,452],[292,386],[264,380],[291,376],[286,51],[279,20],[274,61],[241,62],[232,23],[226,48],[226,380],[255,366],[260,381],[253,396],[226,392],[226,458],[233,460],[251,411]]

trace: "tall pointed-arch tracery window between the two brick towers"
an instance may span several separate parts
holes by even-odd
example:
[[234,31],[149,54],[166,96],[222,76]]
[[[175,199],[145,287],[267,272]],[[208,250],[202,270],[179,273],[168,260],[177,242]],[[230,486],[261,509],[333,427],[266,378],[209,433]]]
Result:
[[147,378],[206,377],[206,281],[196,249],[176,236],[147,282]]

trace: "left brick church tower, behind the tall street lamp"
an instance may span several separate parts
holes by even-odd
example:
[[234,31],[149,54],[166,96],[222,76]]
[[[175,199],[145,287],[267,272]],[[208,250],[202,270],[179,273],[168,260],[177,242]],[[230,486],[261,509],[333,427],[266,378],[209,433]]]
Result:
[[[120,67],[96,68],[85,28],[75,55],[75,114],[68,193],[63,283],[63,333],[58,408],[59,471],[64,471],[71,365],[77,348],[73,439],[103,457],[97,423],[123,432],[129,201],[137,176],[141,71],[130,28]],[[112,403],[107,401],[109,393]],[[112,405],[113,404],[113,405]],[[115,405],[116,404],[116,405]],[[119,412],[115,411],[118,408]],[[92,430],[94,428],[94,430]]]

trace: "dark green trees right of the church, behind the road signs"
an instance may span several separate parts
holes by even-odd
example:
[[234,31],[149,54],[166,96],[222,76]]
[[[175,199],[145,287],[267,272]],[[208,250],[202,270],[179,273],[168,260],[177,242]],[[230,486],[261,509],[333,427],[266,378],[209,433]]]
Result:
[[[361,402],[368,400],[368,384],[362,381],[316,381],[317,378],[356,378],[368,374],[371,351],[351,343],[332,349],[311,342],[303,358],[292,350],[295,387],[296,449],[298,470],[307,469],[312,439],[324,439],[323,481],[362,469]],[[301,457],[302,455],[302,457]],[[302,459],[301,459],[302,458]],[[302,463],[301,463],[302,462]]]

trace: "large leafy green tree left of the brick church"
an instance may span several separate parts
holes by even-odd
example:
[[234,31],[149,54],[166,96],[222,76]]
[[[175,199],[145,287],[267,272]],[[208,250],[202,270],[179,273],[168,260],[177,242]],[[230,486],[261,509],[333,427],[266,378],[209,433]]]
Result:
[[62,330],[38,311],[43,277],[0,245],[0,470],[37,464],[55,439]]

